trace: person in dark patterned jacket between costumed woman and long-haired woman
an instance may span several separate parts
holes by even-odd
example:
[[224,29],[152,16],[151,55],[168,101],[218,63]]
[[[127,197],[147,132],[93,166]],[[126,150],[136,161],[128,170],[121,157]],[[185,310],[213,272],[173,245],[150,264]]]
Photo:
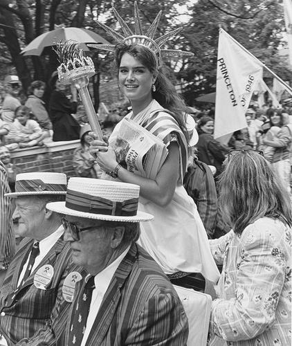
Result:
[[215,180],[210,167],[197,159],[194,147],[189,150],[188,172],[183,178],[183,186],[197,205],[208,239],[213,239],[217,214]]

